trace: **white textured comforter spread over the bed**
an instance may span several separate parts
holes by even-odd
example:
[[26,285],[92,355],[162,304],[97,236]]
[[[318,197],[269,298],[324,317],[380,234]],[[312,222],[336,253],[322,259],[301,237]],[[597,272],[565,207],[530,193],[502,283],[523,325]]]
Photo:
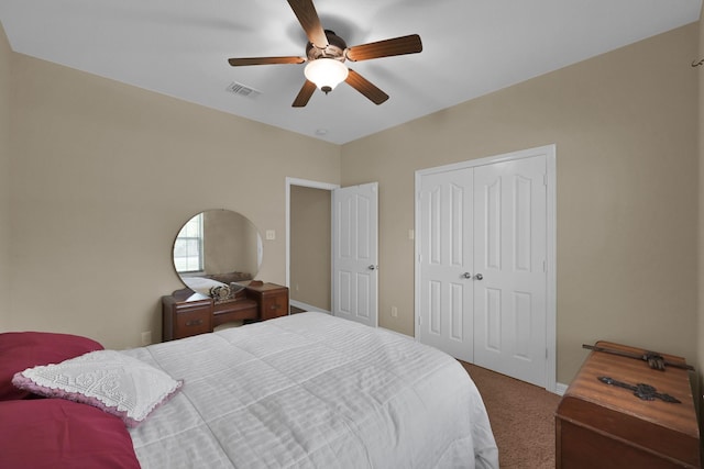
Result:
[[320,313],[125,354],[185,384],[131,431],[148,468],[498,468],[457,360]]

